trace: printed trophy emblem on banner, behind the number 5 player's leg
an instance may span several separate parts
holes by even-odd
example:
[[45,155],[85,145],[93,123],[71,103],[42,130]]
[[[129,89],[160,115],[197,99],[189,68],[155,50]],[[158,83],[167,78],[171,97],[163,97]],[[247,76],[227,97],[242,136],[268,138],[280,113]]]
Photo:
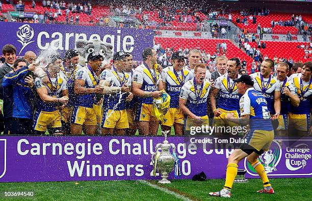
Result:
[[[273,140],[270,150],[264,152],[259,156],[259,161],[263,164],[265,171],[268,175],[274,173],[277,170],[277,165],[280,162],[282,156],[282,149],[279,143]],[[245,169],[250,175],[256,176],[257,173],[255,169],[248,163],[247,158],[245,158]]]

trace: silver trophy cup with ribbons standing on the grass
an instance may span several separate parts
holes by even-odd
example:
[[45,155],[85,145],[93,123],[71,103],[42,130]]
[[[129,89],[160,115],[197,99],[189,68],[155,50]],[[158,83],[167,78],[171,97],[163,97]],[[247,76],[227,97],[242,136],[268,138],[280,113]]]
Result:
[[[167,179],[169,173],[174,168],[176,158],[170,153],[170,148],[172,148],[172,152],[175,155],[175,146],[170,145],[170,143],[167,140],[167,133],[168,131],[162,131],[163,135],[165,135],[165,140],[162,144],[158,144],[155,147],[155,153],[152,154],[151,160],[152,164],[154,166],[153,175],[156,176],[155,171],[158,170],[158,172],[162,175],[162,180],[160,180],[158,183],[161,184],[171,184],[171,182]],[[161,152],[160,152],[161,150]]]

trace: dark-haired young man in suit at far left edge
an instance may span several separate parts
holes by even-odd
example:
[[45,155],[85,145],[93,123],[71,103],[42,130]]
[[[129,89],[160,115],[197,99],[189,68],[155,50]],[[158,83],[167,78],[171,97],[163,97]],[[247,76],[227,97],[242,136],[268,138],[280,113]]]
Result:
[[2,54],[6,59],[6,62],[2,67],[0,67],[0,99],[3,99],[3,78],[5,74],[13,71],[13,64],[16,60],[16,48],[11,44],[6,44],[2,48]]

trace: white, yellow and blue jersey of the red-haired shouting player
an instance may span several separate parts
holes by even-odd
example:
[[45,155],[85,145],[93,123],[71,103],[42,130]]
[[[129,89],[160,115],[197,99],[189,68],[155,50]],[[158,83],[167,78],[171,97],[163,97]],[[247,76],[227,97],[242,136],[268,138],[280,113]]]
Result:
[[203,117],[207,115],[207,97],[211,89],[211,83],[209,80],[204,79],[202,86],[196,84],[196,89],[194,79],[187,81],[181,88],[180,98],[187,100],[186,106],[193,114]]

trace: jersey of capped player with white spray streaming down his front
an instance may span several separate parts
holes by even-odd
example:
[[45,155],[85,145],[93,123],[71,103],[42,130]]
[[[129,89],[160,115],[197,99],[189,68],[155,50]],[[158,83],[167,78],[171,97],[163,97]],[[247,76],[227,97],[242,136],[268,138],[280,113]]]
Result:
[[[128,87],[131,87],[132,85],[132,79],[128,73],[116,72],[111,69],[104,70],[100,75],[100,79],[108,80],[111,87],[122,87],[124,83]],[[108,109],[113,110],[126,109],[126,93],[123,93],[122,97],[120,97],[120,95],[120,93],[116,93],[114,95],[105,95],[106,104],[103,105],[103,107],[107,107]]]

